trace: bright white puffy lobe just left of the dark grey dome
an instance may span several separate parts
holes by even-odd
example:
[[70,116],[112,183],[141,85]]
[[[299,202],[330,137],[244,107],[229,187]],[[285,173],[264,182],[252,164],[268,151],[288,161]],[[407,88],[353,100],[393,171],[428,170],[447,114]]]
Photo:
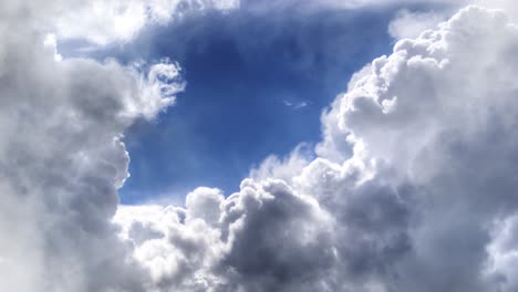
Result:
[[185,291],[208,291],[218,279],[207,272],[220,260],[220,231],[185,209],[159,206],[122,207],[114,218],[123,226],[134,257],[151,272],[154,289],[172,285]]

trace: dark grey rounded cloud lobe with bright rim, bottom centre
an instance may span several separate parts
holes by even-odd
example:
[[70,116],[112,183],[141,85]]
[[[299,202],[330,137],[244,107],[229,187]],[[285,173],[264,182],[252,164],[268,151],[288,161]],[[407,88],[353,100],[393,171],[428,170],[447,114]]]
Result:
[[330,218],[282,181],[245,180],[225,209],[231,250],[224,264],[239,273],[246,291],[308,289],[334,261]]

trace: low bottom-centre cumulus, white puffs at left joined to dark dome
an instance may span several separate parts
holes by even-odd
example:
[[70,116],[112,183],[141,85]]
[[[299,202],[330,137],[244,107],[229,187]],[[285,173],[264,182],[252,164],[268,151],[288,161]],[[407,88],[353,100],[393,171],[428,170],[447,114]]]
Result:
[[[185,209],[156,208],[122,207],[115,221],[131,226],[126,238],[135,225],[148,227],[138,237],[162,231],[158,239],[133,242],[136,258],[165,291],[302,289],[299,277],[318,281],[322,272],[311,263],[334,260],[332,233],[324,228],[330,218],[281,180],[245,180],[240,192],[226,199],[218,190],[199,188],[187,196]],[[142,219],[142,212],[156,219]]]

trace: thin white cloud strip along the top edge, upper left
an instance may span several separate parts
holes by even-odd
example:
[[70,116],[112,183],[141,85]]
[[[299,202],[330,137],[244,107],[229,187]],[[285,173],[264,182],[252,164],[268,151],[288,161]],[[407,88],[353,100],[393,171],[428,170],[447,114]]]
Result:
[[148,25],[167,24],[189,13],[237,9],[239,0],[58,0],[45,6],[43,10],[54,14],[46,18],[48,29],[59,39],[105,45],[131,41]]

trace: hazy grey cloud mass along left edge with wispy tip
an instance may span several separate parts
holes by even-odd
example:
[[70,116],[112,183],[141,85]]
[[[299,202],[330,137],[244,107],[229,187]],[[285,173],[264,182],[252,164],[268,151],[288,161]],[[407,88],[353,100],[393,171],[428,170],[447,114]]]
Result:
[[58,62],[32,18],[38,3],[0,11],[0,286],[145,291],[147,274],[111,223],[127,177],[121,139],[174,101],[176,66],[141,74],[115,61]]

